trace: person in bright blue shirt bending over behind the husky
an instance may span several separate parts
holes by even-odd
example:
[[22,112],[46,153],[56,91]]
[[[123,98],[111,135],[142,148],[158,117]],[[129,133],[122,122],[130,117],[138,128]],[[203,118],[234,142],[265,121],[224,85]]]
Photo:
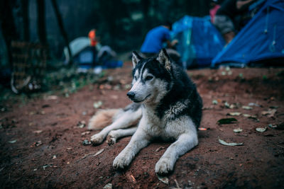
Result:
[[167,43],[167,47],[171,48],[175,46],[178,40],[170,42],[170,30],[172,29],[172,23],[166,22],[163,25],[153,28],[150,30],[141,46],[141,52],[145,57],[152,57],[153,55],[160,52],[163,48],[163,42]]

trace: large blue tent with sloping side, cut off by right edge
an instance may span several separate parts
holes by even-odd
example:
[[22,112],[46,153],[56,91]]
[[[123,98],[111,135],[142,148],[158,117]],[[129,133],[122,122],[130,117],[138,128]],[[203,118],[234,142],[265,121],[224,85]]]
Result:
[[252,62],[275,58],[284,60],[283,0],[266,1],[251,21],[213,59],[212,67],[219,64],[243,67]]

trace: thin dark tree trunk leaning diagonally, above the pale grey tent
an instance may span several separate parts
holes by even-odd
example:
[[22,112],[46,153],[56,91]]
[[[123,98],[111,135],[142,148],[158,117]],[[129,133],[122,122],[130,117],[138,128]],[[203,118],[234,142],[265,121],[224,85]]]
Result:
[[56,18],[58,20],[58,25],[59,25],[59,28],[60,28],[61,35],[64,38],[65,45],[66,45],[66,47],[68,49],[68,54],[69,54],[69,57],[70,57],[70,62],[69,63],[72,64],[72,54],[71,54],[71,50],[70,50],[70,46],[69,46],[69,40],[68,40],[67,33],[65,31],[63,22],[62,22],[62,18],[61,18],[59,9],[58,9],[58,5],[56,4],[56,0],[51,0],[51,3],[53,4],[53,9],[55,11],[55,16],[56,16]]

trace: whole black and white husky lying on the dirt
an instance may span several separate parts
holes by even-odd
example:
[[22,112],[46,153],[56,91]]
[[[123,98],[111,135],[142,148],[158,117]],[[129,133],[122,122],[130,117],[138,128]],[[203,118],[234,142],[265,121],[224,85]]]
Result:
[[[129,166],[134,156],[153,139],[174,141],[155,164],[155,173],[173,171],[175,161],[198,144],[197,127],[202,117],[202,99],[185,71],[171,61],[163,49],[157,57],[143,59],[133,52],[133,81],[127,96],[133,101],[124,110],[102,110],[89,122],[89,129],[106,124],[91,137],[100,144],[108,136],[114,143],[133,135],[129,144],[114,159],[114,168]],[[138,127],[135,126],[138,123]]]

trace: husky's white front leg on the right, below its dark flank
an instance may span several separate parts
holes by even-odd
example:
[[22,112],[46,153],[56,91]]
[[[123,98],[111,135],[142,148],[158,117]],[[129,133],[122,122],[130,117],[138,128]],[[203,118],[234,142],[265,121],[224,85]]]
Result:
[[198,144],[197,133],[190,132],[181,134],[178,140],[168,147],[165,154],[160,158],[157,164],[155,164],[155,173],[164,175],[173,171],[175,161],[182,154],[192,149]]

